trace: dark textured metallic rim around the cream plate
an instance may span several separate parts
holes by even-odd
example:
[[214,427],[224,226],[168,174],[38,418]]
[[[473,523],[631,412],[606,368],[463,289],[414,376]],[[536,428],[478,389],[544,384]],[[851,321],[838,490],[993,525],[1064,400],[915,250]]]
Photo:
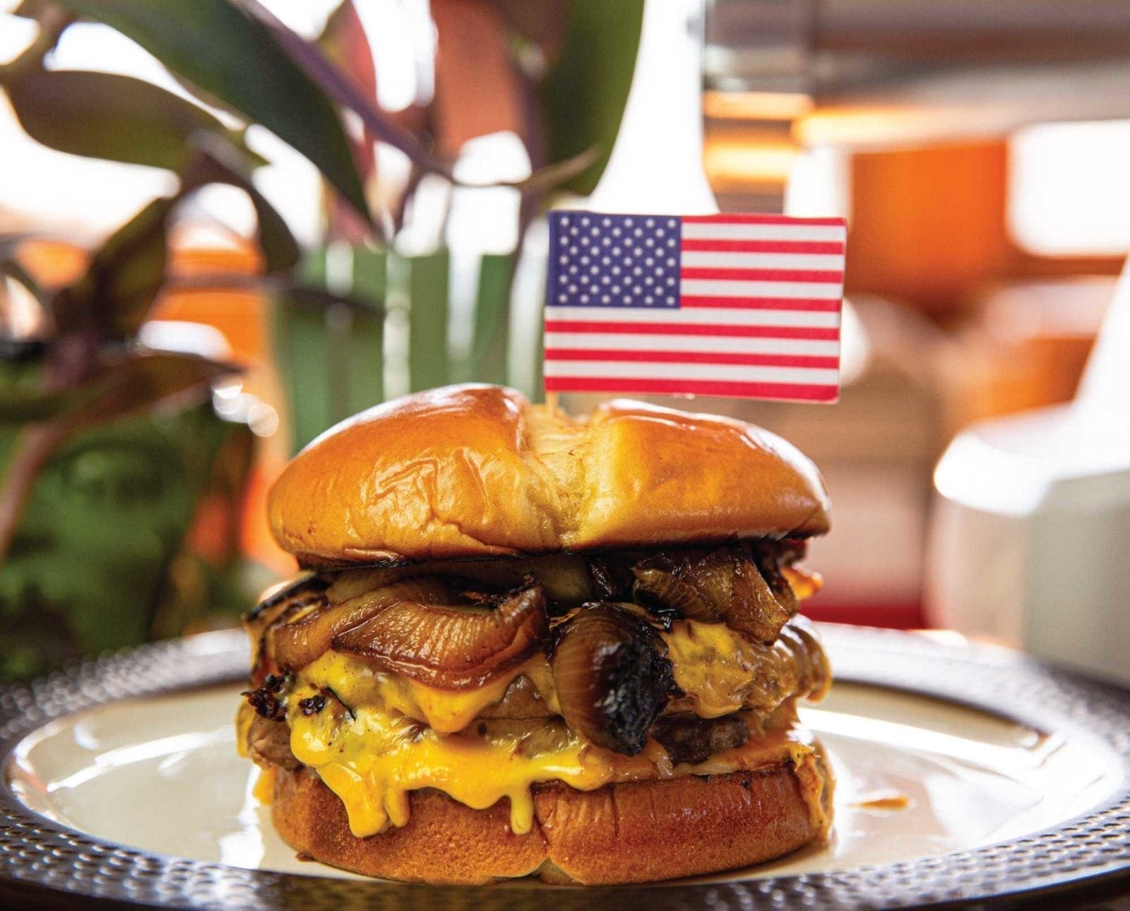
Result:
[[[1122,782],[1103,802],[1055,826],[980,848],[850,870],[721,883],[558,887],[558,905],[623,908],[625,888],[657,909],[906,908],[1018,899],[1130,877],[1130,689],[994,645],[920,633],[819,624],[837,679],[941,699],[1026,723],[1074,730],[1122,757]],[[17,745],[67,715],[124,699],[236,683],[240,631],[123,649],[31,684],[0,687],[0,896],[34,893],[69,906],[90,899],[150,906],[268,909],[513,908],[529,891],[389,884],[231,867],[158,854],[69,828],[25,806],[9,774]],[[1002,697],[992,702],[986,693]],[[1009,699],[1011,696],[1012,699]]]

